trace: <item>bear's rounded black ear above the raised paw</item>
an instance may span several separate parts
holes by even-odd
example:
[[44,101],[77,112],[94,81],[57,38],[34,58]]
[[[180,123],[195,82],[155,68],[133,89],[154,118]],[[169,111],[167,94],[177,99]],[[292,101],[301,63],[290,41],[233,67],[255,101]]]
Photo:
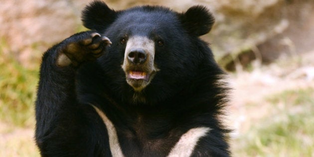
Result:
[[101,0],[89,3],[82,11],[83,25],[97,31],[106,29],[116,18],[117,12]]

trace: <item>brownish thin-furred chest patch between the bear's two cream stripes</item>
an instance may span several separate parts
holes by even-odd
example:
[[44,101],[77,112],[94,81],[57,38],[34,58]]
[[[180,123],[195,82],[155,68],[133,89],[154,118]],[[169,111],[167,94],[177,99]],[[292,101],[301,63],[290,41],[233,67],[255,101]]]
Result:
[[139,122],[128,129],[117,130],[120,147],[128,157],[165,157],[182,135],[181,131],[167,130],[154,123]]

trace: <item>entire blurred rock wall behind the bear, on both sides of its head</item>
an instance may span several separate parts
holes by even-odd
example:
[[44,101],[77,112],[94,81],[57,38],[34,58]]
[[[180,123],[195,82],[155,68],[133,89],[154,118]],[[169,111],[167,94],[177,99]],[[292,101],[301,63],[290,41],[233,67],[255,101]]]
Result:
[[[0,4],[0,36],[23,64],[52,44],[84,30],[80,11],[91,0],[6,0]],[[226,67],[248,53],[272,61],[281,54],[298,54],[314,45],[313,0],[106,0],[119,10],[142,4],[166,5],[184,11],[202,4],[216,23],[202,36],[211,43],[218,62]],[[3,46],[3,44],[2,44]],[[251,57],[251,55],[255,57]],[[258,55],[258,56],[256,56]],[[245,56],[245,54],[242,54]],[[237,60],[237,59],[236,59]],[[238,59],[243,60],[243,59]],[[247,63],[247,59],[244,59]]]

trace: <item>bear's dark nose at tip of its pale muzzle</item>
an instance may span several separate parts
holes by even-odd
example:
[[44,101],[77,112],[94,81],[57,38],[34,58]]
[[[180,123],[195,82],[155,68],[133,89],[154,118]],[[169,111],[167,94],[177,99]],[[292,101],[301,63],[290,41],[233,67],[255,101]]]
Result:
[[128,60],[133,64],[143,64],[146,61],[146,52],[142,48],[132,48]]

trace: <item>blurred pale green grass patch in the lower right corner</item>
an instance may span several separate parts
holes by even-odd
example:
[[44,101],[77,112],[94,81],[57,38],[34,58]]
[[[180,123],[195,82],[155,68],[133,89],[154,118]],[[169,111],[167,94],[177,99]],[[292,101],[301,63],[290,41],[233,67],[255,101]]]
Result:
[[235,157],[314,157],[314,89],[285,91],[267,100],[272,114],[236,139]]

